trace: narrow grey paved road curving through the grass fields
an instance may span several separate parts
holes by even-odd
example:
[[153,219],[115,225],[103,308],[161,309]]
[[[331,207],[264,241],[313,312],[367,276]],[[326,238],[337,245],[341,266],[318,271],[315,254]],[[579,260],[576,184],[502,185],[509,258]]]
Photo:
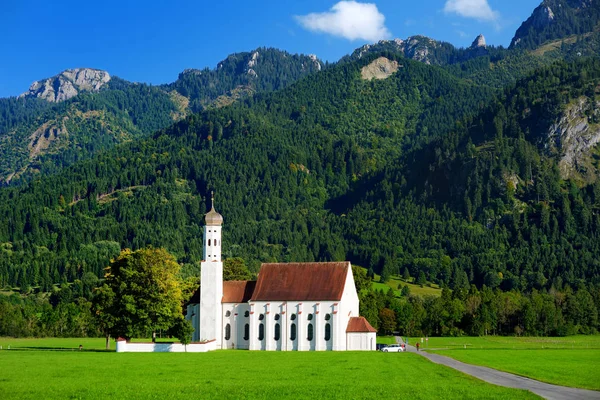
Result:
[[[402,343],[400,338],[396,338],[398,343]],[[575,389],[566,386],[551,385],[536,381],[533,379],[525,378],[522,376],[509,374],[508,372],[498,371],[492,368],[480,367],[477,365],[465,364],[460,361],[456,361],[453,358],[440,356],[438,354],[431,354],[425,351],[418,351],[414,346],[406,346],[406,349],[410,352],[420,354],[421,356],[428,358],[436,364],[442,364],[450,368],[454,368],[465,374],[474,376],[475,378],[481,379],[482,381],[492,383],[498,386],[506,386],[515,389],[525,389],[542,396],[549,400],[587,400],[587,399],[599,399],[600,392],[595,390]]]

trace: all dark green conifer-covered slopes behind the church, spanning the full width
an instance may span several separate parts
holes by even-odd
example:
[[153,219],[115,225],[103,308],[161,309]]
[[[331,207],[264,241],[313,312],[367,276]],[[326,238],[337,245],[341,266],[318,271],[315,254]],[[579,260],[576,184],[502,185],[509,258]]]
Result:
[[594,95],[598,63],[542,70],[486,108],[489,90],[399,60],[386,80],[360,78],[370,59],[334,67],[1,191],[4,284],[99,274],[103,248],[193,264],[210,189],[225,253],[255,262],[399,264],[450,287],[597,280],[598,184],[563,180],[539,138]]

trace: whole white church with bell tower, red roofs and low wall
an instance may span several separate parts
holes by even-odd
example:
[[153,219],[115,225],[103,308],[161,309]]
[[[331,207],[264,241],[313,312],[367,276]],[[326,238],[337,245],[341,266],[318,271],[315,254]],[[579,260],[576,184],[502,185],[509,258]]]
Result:
[[[223,217],[205,216],[201,284],[187,306],[192,344],[117,343],[117,351],[375,350],[349,262],[264,263],[256,281],[223,281]],[[149,350],[152,346],[152,350]],[[164,347],[164,348],[163,348]]]

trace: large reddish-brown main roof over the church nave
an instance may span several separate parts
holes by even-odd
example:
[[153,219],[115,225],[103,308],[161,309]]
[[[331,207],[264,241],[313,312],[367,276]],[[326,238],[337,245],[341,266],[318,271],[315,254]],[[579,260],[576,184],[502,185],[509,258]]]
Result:
[[348,268],[348,262],[262,264],[251,301],[341,300]]

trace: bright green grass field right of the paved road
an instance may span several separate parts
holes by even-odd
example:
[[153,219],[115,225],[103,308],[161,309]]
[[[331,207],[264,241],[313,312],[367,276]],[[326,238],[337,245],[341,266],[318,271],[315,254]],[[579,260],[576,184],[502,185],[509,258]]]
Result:
[[543,382],[600,390],[600,336],[429,338],[423,348]]

